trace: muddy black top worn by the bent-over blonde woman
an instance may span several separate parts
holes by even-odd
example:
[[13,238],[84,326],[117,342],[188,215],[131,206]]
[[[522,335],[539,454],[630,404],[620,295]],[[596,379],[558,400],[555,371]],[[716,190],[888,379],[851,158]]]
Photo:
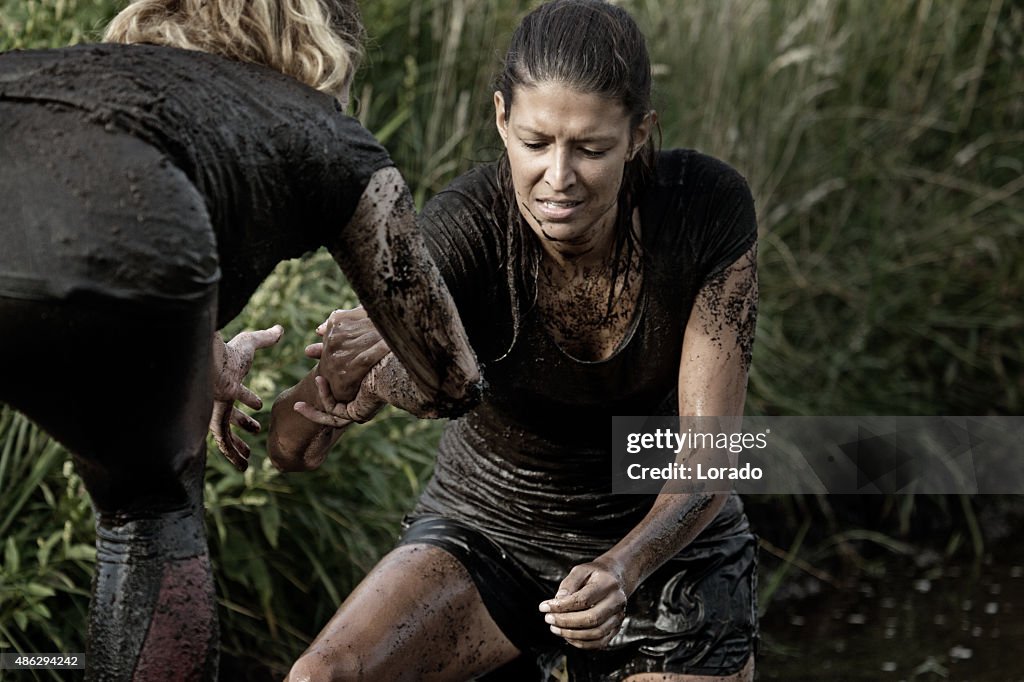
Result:
[[392,165],[333,97],[193,50],[101,44],[0,54],[0,102],[77,113],[82,125],[144,140],[184,172],[216,235],[218,326],[278,262],[338,246],[370,177]]

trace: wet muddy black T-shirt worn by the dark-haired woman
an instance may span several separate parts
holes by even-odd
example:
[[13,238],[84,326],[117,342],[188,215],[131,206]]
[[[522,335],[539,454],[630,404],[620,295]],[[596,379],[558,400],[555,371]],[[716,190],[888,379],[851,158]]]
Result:
[[[456,299],[487,389],[447,424],[418,513],[454,516],[558,580],[621,540],[652,497],[611,495],[611,417],[678,414],[683,333],[709,276],[757,239],[735,170],[688,150],[662,153],[639,203],[644,278],[630,331],[604,360],[555,342],[535,308],[513,339],[504,271],[507,215],[494,166],[456,180],[421,225]],[[742,517],[733,495],[703,537]]]

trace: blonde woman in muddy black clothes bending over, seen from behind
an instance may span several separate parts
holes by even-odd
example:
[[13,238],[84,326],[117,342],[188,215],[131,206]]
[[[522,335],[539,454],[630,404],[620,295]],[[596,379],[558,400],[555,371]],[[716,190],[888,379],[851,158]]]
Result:
[[206,432],[245,468],[236,401],[282,334],[216,330],[279,261],[328,247],[415,394],[474,390],[409,191],[343,114],[361,35],[354,0],[138,0],[109,43],[0,55],[0,400],[92,499],[89,679],[216,679]]

